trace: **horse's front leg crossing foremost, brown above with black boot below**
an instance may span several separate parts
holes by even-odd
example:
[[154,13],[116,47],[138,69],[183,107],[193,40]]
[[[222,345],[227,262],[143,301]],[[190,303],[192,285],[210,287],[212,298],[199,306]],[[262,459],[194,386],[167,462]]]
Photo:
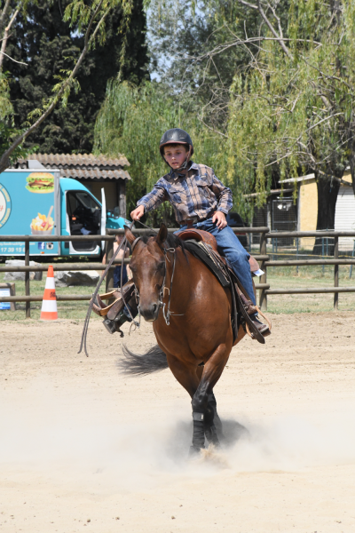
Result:
[[[232,347],[232,346],[231,346]],[[219,445],[217,428],[214,424],[220,423],[217,415],[217,402],[213,394],[213,387],[220,378],[231,351],[231,347],[220,345],[205,363],[201,375],[200,385],[193,394],[193,446],[191,451],[200,451],[204,448],[205,434],[209,442]]]

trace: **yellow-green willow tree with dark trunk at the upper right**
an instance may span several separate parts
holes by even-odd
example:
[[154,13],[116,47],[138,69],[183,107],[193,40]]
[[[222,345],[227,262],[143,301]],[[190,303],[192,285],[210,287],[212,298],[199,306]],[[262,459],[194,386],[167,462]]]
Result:
[[317,228],[334,228],[343,171],[355,167],[355,1],[290,0],[283,19],[277,1],[238,1],[261,25],[235,43],[248,47],[251,60],[231,87],[229,182],[258,193],[262,205],[272,172],[282,179],[313,171]]

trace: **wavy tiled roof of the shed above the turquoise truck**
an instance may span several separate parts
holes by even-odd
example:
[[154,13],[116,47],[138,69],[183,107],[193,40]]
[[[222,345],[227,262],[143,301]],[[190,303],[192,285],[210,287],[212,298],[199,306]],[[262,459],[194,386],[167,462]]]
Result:
[[109,158],[93,154],[32,154],[27,159],[19,159],[19,168],[34,168],[38,161],[44,168],[56,168],[60,176],[74,179],[130,179],[123,167],[130,166],[127,158]]

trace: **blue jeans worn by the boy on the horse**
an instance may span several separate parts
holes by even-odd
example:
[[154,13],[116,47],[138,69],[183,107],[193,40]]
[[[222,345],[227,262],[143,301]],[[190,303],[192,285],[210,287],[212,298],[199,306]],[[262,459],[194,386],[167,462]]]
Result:
[[[180,227],[180,231],[186,229],[186,227],[187,226]],[[223,229],[218,229],[217,225],[212,222],[212,219],[197,222],[197,224],[193,224],[193,227],[208,231],[215,236],[219,253],[228,260],[233,268],[234,274],[238,276],[242,286],[248,292],[249,298],[253,304],[256,304],[248,262],[250,255],[248,254],[248,251],[241,246],[240,240],[237,235],[234,234],[233,229],[229,226],[226,226]]]

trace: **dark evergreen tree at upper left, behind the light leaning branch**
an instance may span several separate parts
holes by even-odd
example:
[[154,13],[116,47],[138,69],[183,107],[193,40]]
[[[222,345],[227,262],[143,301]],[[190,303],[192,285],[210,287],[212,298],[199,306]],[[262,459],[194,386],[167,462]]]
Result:
[[[28,114],[51,97],[56,76],[72,67],[73,58],[83,48],[83,36],[76,35],[62,12],[69,0],[50,6],[46,0],[28,5],[12,25],[4,68],[12,76],[11,99],[15,123],[26,123]],[[107,80],[121,68],[122,34],[118,28],[122,12],[117,7],[106,20],[106,40],[91,50],[77,74],[80,91],[72,91],[66,107],[57,107],[29,139],[25,147],[38,145],[44,153],[91,152],[93,128],[99,107],[105,98]],[[122,76],[139,83],[146,76],[145,14],[141,2],[134,4],[122,66]]]

